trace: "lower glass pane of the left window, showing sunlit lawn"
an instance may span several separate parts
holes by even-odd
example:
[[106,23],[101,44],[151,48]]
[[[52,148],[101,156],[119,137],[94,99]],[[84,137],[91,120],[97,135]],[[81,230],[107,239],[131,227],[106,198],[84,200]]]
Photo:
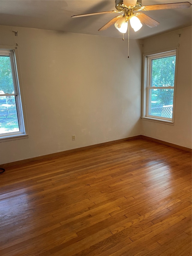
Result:
[[0,96],[0,134],[18,131],[15,96]]

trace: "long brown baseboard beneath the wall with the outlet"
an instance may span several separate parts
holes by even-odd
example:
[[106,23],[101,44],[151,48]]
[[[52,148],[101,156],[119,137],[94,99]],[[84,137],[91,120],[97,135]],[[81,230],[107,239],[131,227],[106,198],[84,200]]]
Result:
[[41,155],[41,156],[28,158],[28,159],[24,159],[24,160],[19,160],[19,161],[15,161],[15,162],[10,162],[10,163],[6,163],[6,164],[0,164],[0,168],[11,167],[14,165],[19,165],[19,164],[27,164],[30,162],[44,160],[47,158],[52,158],[52,157],[61,156],[61,155],[67,155],[67,154],[74,153],[74,152],[79,152],[79,151],[83,151],[83,150],[87,150],[87,149],[93,149],[93,148],[97,148],[97,147],[101,147],[101,146],[107,146],[110,144],[119,143],[119,142],[123,142],[123,141],[127,141],[127,140],[136,140],[136,139],[140,139],[140,138],[141,138],[141,135],[137,135],[137,136],[128,137],[128,138],[124,138],[124,139],[112,140],[112,141],[107,141],[107,142],[103,142],[103,143],[99,143],[99,144],[95,144],[95,145],[90,145],[90,146],[85,146],[85,147],[81,147],[81,148],[56,152],[56,153],[52,153],[52,154],[48,154],[48,155]]

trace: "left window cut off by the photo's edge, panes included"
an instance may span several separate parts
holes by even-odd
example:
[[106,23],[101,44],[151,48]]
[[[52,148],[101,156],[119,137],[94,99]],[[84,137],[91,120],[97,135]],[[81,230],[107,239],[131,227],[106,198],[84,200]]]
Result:
[[25,135],[14,50],[0,50],[0,139]]

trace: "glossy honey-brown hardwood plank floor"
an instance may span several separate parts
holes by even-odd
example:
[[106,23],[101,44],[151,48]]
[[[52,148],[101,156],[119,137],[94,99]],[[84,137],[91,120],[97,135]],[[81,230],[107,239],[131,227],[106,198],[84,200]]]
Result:
[[7,167],[0,255],[191,255],[191,153],[145,139]]

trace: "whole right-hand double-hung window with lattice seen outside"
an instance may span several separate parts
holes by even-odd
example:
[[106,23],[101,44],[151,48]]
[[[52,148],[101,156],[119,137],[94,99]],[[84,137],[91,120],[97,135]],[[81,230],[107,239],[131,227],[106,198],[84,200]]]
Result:
[[173,123],[176,50],[144,56],[142,117]]

